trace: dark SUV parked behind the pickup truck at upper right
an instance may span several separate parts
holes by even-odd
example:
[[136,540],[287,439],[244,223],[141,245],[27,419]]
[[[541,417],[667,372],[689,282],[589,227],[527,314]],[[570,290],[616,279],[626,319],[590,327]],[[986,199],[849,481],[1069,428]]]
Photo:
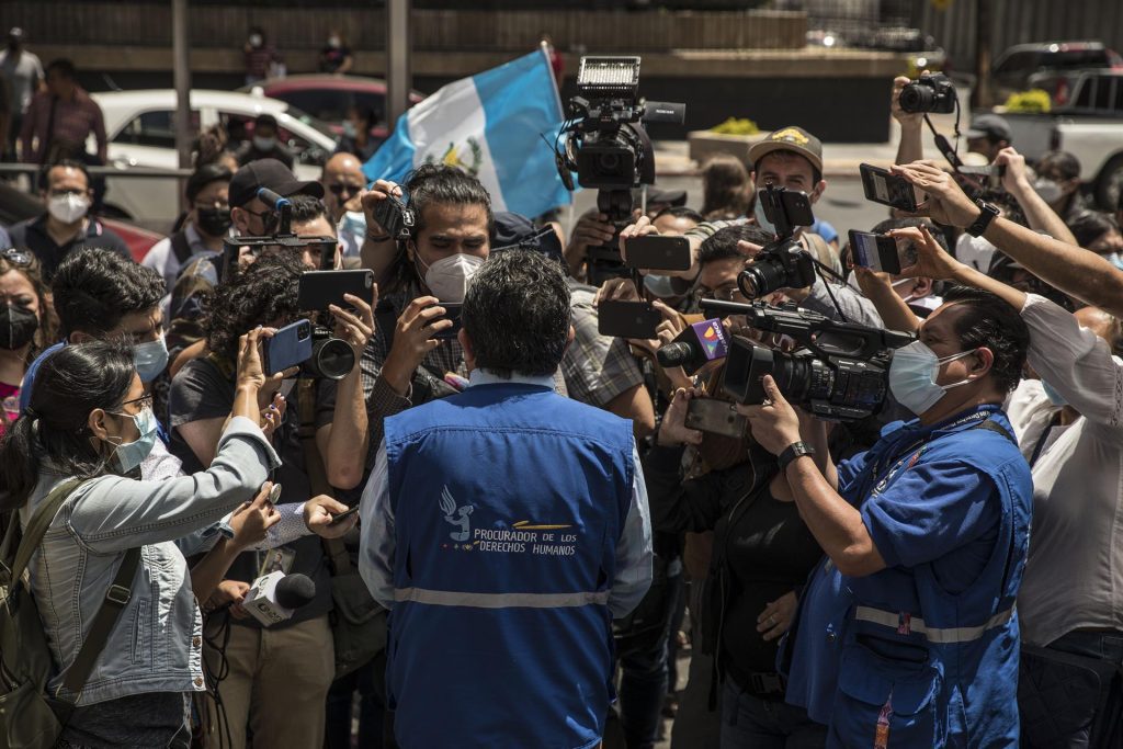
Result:
[[1040,42],[1010,47],[994,63],[993,80],[999,99],[1029,89],[1043,89],[1053,103],[1066,104],[1071,75],[1081,71],[1123,67],[1123,57],[1102,42]]

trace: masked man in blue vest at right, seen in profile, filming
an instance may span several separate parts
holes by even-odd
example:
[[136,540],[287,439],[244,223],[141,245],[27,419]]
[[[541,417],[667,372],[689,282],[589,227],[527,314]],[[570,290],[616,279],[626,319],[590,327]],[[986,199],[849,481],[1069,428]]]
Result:
[[994,294],[957,287],[919,336],[889,369],[919,418],[837,471],[806,457],[825,449],[823,423],[803,419],[801,437],[772,377],[765,404],[740,407],[828,557],[787,636],[787,701],[829,724],[829,747],[1016,747],[1033,487],[1002,403],[1029,331]]

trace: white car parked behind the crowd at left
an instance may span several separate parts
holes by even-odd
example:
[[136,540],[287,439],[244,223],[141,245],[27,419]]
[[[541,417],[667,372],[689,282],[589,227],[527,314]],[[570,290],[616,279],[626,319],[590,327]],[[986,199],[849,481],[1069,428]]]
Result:
[[[109,138],[109,165],[176,168],[175,90],[111,91],[90,94],[101,107]],[[320,179],[320,167],[336,147],[327,127],[309,115],[277,99],[230,91],[191,92],[191,131],[220,124],[232,134],[253,130],[258,115],[273,115],[279,137],[293,154],[294,171],[301,180]],[[247,129],[247,125],[249,126]],[[248,136],[247,136],[248,137]],[[231,137],[237,148],[239,138]],[[89,144],[89,150],[95,146]],[[106,203],[124,217],[165,234],[180,216],[182,190],[174,177],[108,177]]]

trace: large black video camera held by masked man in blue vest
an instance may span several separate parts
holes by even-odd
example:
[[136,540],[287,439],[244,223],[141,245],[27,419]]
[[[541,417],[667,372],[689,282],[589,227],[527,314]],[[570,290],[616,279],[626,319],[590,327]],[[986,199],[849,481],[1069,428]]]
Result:
[[912,334],[837,322],[787,303],[738,304],[702,300],[702,308],[743,314],[758,330],[786,334],[804,349],[785,354],[734,336],[725,357],[724,390],[739,403],[761,403],[761,378],[772,375],[792,404],[837,421],[855,421],[880,411],[888,392],[893,349]]

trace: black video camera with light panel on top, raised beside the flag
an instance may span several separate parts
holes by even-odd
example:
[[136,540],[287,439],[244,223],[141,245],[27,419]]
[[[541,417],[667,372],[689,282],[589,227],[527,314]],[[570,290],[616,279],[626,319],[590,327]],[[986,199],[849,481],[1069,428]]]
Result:
[[[681,125],[686,112],[686,104],[638,98],[639,63],[639,57],[582,57],[577,95],[558,134],[565,145],[554,145],[566,189],[575,188],[573,172],[581,186],[596,188],[596,207],[618,232],[631,220],[632,189],[655,182],[655,150],[643,125]],[[628,274],[614,243],[588,248],[592,283]]]

